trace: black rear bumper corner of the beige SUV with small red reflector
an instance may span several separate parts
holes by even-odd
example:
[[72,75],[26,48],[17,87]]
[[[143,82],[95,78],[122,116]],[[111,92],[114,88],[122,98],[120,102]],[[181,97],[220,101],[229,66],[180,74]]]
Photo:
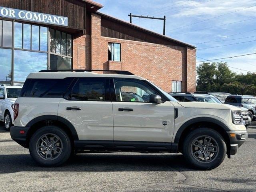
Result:
[[[21,146],[28,148],[28,144],[26,142],[26,136],[28,133],[30,127],[18,127],[18,126],[12,126],[10,128],[10,134],[11,134],[11,138],[12,140],[14,140],[15,142],[17,142],[18,144],[20,144]],[[21,132],[21,131],[24,131]]]

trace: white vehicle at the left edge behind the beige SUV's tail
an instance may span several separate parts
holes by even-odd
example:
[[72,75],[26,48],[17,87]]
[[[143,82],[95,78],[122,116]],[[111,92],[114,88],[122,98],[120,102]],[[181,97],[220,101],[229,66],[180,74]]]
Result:
[[13,125],[13,104],[20,95],[21,86],[0,85],[0,120],[4,121],[4,128],[9,131]]

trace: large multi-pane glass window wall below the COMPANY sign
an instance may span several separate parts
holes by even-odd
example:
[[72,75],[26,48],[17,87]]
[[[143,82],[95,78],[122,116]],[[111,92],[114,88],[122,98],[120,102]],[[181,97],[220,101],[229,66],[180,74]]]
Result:
[[0,60],[2,83],[24,82],[30,72],[39,70],[72,69],[72,35],[36,24],[0,20]]

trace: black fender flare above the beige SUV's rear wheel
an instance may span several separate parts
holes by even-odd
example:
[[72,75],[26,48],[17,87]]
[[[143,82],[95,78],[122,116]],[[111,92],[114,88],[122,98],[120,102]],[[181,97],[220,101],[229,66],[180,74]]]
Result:
[[42,115],[42,116],[36,117],[36,118],[32,119],[30,122],[28,122],[28,124],[26,124],[26,127],[31,127],[34,124],[36,124],[37,122],[40,122],[43,120],[54,120],[54,121],[62,122],[70,129],[74,140],[78,140],[78,135],[77,135],[76,129],[72,125],[72,123],[70,121],[66,120],[65,118],[57,116],[57,115]]

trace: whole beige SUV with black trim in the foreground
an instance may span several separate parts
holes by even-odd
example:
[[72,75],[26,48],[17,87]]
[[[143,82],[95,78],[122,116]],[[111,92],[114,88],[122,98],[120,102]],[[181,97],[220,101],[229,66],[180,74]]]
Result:
[[[127,92],[147,93],[149,101],[124,100]],[[177,102],[126,71],[81,70],[30,73],[10,133],[42,166],[59,166],[72,152],[182,152],[185,162],[206,170],[248,137],[240,108]]]

